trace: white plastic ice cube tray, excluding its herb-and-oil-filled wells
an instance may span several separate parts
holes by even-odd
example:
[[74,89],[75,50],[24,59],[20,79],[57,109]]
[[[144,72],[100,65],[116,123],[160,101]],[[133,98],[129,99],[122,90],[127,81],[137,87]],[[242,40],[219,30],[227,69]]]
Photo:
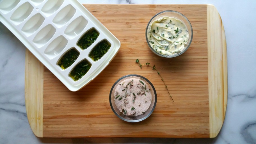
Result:
[[[0,21],[71,91],[81,89],[98,76],[120,48],[120,41],[76,0],[0,0]],[[92,28],[99,32],[99,37],[82,50],[77,42]],[[93,61],[90,51],[102,40],[107,40],[111,47],[102,58]],[[79,57],[63,70],[58,61],[72,48],[80,53]],[[69,74],[84,59],[92,67],[74,81]]]

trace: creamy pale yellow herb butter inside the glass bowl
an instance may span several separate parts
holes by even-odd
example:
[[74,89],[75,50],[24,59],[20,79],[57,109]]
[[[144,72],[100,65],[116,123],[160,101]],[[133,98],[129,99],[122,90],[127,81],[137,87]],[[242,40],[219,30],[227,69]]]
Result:
[[152,48],[164,55],[180,53],[188,42],[188,28],[181,20],[163,16],[148,26],[148,41]]

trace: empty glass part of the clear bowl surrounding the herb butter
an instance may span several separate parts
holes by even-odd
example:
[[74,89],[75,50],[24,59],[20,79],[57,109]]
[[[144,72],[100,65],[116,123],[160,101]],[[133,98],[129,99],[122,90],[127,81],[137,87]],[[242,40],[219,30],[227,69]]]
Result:
[[[159,19],[160,17],[163,17],[163,16],[175,17],[175,18],[181,20],[182,22],[184,22],[184,24],[188,28],[188,34],[189,34],[188,43],[187,43],[186,47],[184,47],[184,49],[182,51],[180,51],[179,53],[176,53],[176,54],[173,54],[173,55],[160,54],[160,53],[156,52],[151,47],[151,45],[149,44],[148,35],[147,35],[149,26],[152,24],[152,22],[154,22],[155,20],[157,20],[157,19]],[[154,54],[156,54],[158,56],[165,57],[165,58],[173,58],[173,57],[176,57],[176,56],[179,56],[179,55],[183,54],[188,49],[188,47],[190,46],[190,44],[192,42],[192,38],[193,38],[193,29],[192,29],[192,26],[191,26],[191,23],[189,22],[189,20],[182,13],[179,13],[179,12],[176,12],[176,11],[173,11],[173,10],[166,10],[166,11],[157,13],[154,17],[152,17],[152,19],[149,20],[147,28],[146,28],[146,40],[147,40],[147,43],[148,43],[148,47],[151,49],[151,51]]]

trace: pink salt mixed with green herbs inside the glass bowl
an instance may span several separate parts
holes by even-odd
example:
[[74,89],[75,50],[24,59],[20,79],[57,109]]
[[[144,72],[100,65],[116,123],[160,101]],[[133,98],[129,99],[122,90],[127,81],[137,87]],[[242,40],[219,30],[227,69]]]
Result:
[[141,79],[122,81],[115,89],[116,107],[125,115],[137,116],[145,113],[152,101],[150,87]]

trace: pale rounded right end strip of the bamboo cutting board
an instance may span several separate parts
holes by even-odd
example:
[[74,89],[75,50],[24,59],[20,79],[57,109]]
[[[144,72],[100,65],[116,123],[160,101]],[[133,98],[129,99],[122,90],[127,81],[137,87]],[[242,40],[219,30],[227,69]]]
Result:
[[223,125],[227,108],[227,45],[220,14],[207,4],[209,83],[209,131],[215,138]]

